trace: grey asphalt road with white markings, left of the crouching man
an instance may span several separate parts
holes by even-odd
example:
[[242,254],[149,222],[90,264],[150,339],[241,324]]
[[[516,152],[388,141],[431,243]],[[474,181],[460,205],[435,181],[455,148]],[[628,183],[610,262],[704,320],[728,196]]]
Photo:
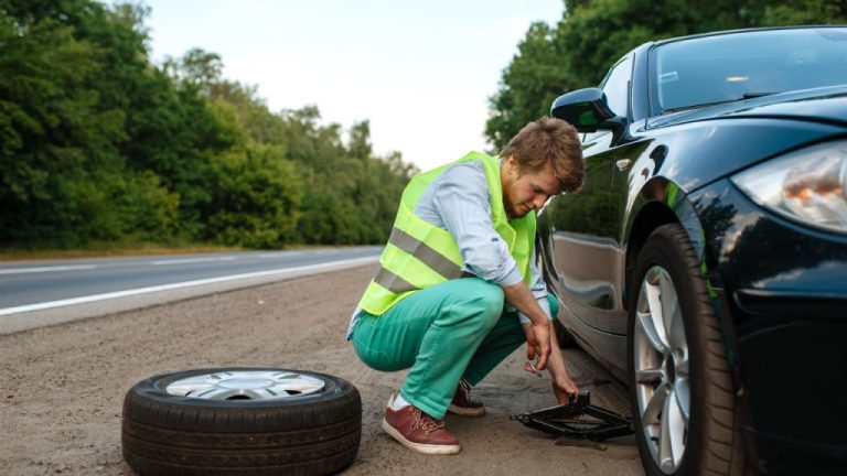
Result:
[[7,262],[0,334],[376,262],[380,247]]

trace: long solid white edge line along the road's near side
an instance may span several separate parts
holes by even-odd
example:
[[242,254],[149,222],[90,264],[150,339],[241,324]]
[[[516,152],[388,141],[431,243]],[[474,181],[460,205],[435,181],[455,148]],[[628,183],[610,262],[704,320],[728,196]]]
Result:
[[268,270],[268,271],[256,271],[251,273],[232,274],[232,275],[208,278],[208,279],[196,280],[196,281],[185,281],[185,282],[173,283],[173,284],[162,284],[157,286],[139,288],[139,289],[126,290],[126,291],[116,291],[116,292],[110,292],[105,294],[94,294],[88,296],[72,298],[72,299],[51,301],[45,303],[26,304],[26,305],[21,305],[15,307],[0,309],[0,315],[15,314],[15,313],[22,313],[22,312],[30,312],[30,311],[40,311],[40,310],[61,307],[61,306],[66,306],[72,304],[104,301],[104,300],[115,299],[115,298],[126,298],[126,296],[131,296],[137,294],[152,293],[157,291],[168,291],[168,290],[174,290],[180,288],[212,284],[212,283],[234,281],[234,280],[246,279],[246,278],[257,278],[257,277],[272,275],[272,274],[285,274],[285,273],[299,272],[299,271],[314,271],[320,269],[332,269],[341,264],[356,264],[356,263],[364,264],[366,262],[376,261],[378,257],[354,258],[349,260],[331,261],[331,262],[320,263],[320,264],[310,264],[310,266],[302,266],[302,267],[294,267],[294,268],[281,268],[281,269]]

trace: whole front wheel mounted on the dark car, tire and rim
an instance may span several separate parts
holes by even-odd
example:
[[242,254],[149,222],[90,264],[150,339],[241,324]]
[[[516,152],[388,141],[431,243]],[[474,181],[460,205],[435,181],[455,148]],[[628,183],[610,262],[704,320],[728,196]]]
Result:
[[732,380],[706,281],[679,225],[653,231],[635,279],[629,383],[646,474],[741,474]]

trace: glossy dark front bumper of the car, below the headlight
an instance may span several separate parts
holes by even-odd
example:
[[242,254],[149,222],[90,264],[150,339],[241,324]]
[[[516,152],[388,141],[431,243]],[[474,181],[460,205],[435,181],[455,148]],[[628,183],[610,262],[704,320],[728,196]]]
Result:
[[720,281],[751,463],[847,474],[847,236],[774,216],[727,180],[689,198]]

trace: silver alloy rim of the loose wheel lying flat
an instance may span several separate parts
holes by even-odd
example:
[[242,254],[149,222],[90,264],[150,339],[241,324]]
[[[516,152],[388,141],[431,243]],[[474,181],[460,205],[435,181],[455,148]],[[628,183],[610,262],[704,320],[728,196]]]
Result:
[[321,379],[283,370],[233,370],[171,382],[169,394],[203,400],[281,400],[323,389]]

